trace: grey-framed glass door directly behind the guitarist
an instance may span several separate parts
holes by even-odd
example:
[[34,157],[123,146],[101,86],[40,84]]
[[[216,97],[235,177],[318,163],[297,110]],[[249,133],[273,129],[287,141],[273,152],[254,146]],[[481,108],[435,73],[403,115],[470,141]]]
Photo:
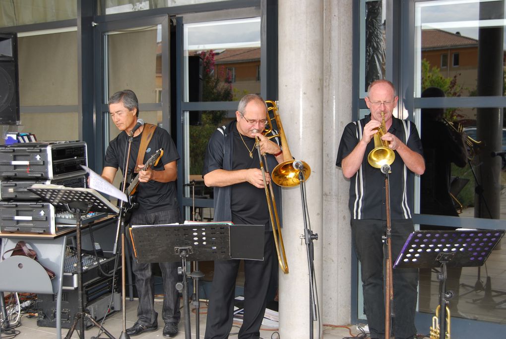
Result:
[[[97,147],[98,171],[109,141],[119,131],[110,121],[108,97],[123,89],[133,90],[139,99],[139,118],[171,133],[170,19],[168,16],[107,22],[95,32],[96,129],[102,131]],[[119,187],[120,176],[114,185]]]

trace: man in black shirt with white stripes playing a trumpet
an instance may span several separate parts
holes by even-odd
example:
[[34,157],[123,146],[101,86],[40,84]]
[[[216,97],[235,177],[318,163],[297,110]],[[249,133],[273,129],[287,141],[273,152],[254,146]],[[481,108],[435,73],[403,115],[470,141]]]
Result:
[[[367,154],[375,149],[373,136],[382,135],[395,153],[391,163],[390,206],[392,221],[392,258],[395,260],[413,232],[413,177],[425,171],[421,141],[412,122],[392,116],[398,97],[393,84],[376,80],[369,85],[365,103],[371,114],[348,124],[343,131],[336,165],[351,179],[350,201],[352,241],[361,263],[364,312],[371,338],[385,338],[385,298],[383,289],[382,237],[387,226],[385,175],[379,166],[368,162]],[[381,127],[385,131],[381,131]],[[382,166],[383,167],[383,166]],[[388,170],[386,171],[388,173]],[[393,270],[396,339],[411,339],[416,334],[414,315],[418,270]],[[389,338],[390,339],[390,338]]]

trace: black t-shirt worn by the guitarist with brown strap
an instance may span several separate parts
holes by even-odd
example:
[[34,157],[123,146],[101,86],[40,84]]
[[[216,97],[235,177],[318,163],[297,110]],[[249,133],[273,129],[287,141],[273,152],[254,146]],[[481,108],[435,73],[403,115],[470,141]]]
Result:
[[[142,134],[134,138],[132,142],[132,149],[130,151],[130,159],[128,162],[128,175],[135,178],[133,168],[137,161],[137,154],[141,144]],[[119,168],[123,173],[123,164],[126,151],[126,144],[128,143],[128,135],[121,132],[113,139],[107,147],[105,154],[104,166]],[[163,149],[163,154],[159,159],[156,166],[152,166],[153,171],[163,171],[163,166],[172,161],[179,159],[178,150],[174,144],[171,136],[162,128],[157,127],[153,133],[153,137],[149,141],[144,156],[145,163],[149,157],[154,154],[158,149]],[[176,192],[176,182],[160,183],[151,180],[147,183],[139,183],[136,190],[136,198],[139,203],[139,209],[136,213],[153,213],[162,210],[179,208]]]

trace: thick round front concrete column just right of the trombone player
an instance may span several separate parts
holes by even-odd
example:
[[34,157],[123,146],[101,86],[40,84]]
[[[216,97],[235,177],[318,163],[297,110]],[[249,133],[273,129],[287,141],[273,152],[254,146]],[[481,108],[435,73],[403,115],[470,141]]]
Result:
[[[323,0],[278,2],[279,115],[294,158],[311,166],[307,180],[310,226],[322,231]],[[279,273],[279,332],[309,338],[309,272],[299,187],[283,189],[283,240],[290,272]],[[314,243],[316,286],[322,291],[322,241]],[[321,309],[321,303],[320,303]],[[321,313],[321,312],[320,312]],[[314,322],[315,337],[318,324]]]

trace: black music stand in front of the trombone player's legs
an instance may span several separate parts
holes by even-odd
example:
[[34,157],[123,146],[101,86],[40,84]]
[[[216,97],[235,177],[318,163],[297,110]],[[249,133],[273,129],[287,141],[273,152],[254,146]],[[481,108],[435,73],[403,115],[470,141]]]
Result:
[[183,294],[186,339],[191,339],[186,261],[263,260],[264,256],[264,225],[223,222],[132,225],[130,237],[134,255],[141,263],[181,260],[183,281],[176,287]]

